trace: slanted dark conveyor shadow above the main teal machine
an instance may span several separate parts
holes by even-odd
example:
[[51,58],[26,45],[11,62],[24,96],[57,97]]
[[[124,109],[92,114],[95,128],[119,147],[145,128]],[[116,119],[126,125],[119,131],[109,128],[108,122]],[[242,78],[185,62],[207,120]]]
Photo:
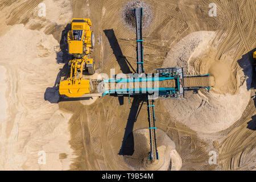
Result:
[[121,68],[122,73],[125,73],[125,74],[132,73],[130,70],[130,67],[131,69],[133,69],[133,72],[136,72],[134,68],[131,66],[131,64],[129,63],[129,61],[126,59],[126,57],[123,56],[122,50],[119,46],[114,30],[113,29],[104,30],[104,33],[109,40],[110,47],[113,50],[115,59],[117,59],[117,62],[119,64],[119,67]]

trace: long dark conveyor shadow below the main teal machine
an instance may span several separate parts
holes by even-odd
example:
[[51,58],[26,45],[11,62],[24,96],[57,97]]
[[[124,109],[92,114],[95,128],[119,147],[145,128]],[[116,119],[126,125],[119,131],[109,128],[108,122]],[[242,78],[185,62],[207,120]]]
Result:
[[118,155],[133,155],[134,153],[134,137],[133,137],[133,127],[134,122],[137,121],[139,112],[141,111],[144,97],[134,96],[133,102],[131,104],[129,117],[127,119],[127,124],[125,128],[125,134],[123,135],[122,146]]

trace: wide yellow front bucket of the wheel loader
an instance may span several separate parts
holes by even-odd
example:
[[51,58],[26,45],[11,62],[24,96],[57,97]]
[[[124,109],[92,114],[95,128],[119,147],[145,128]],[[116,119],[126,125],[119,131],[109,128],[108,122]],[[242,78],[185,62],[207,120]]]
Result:
[[59,92],[68,97],[81,97],[90,93],[90,80],[69,79],[60,82]]

